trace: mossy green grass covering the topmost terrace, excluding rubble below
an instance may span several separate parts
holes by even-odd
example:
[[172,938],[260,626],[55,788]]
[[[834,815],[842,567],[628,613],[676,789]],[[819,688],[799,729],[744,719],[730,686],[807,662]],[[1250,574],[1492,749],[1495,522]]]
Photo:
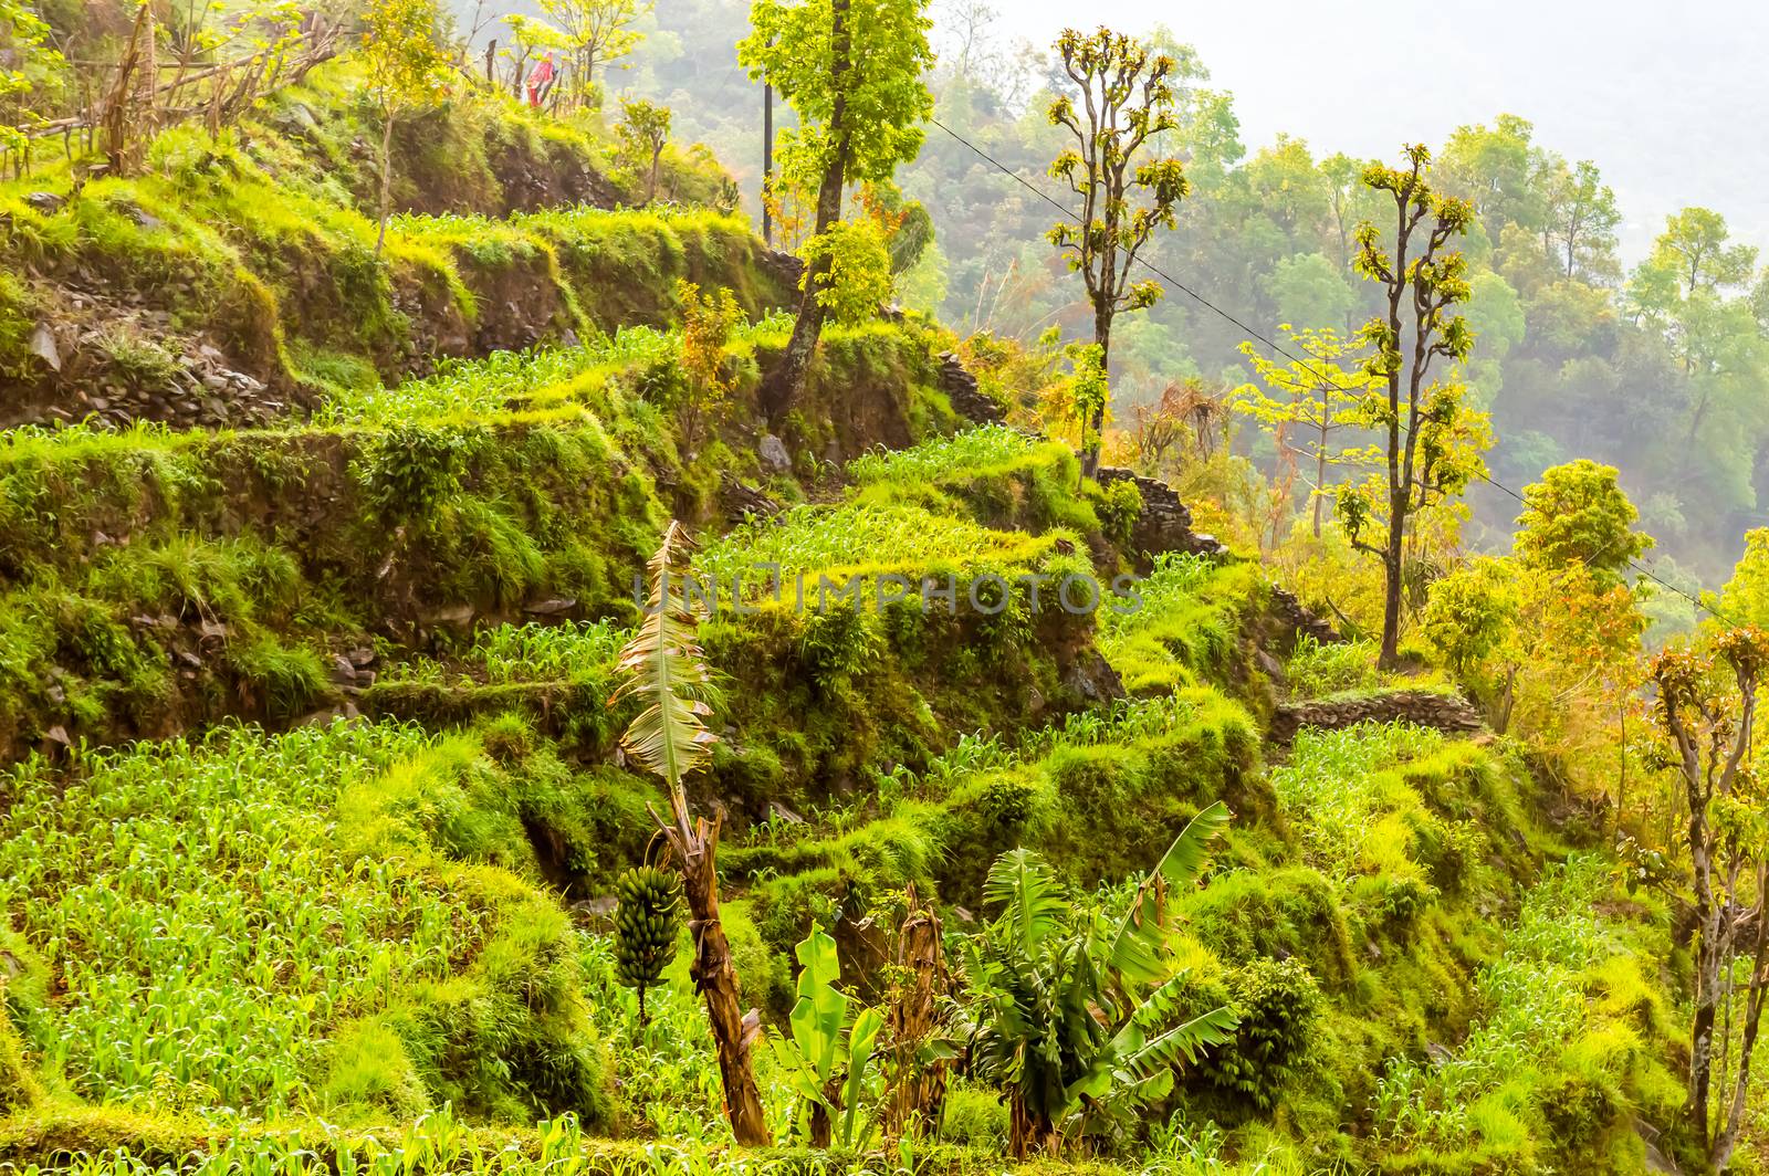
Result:
[[[142,387],[163,384],[173,352],[198,334],[271,384],[340,393],[371,375],[393,382],[439,343],[472,350],[486,324],[548,340],[665,327],[678,317],[678,278],[729,286],[752,315],[791,299],[757,263],[748,225],[713,209],[573,205],[504,218],[508,173],[555,177],[555,196],[568,200],[568,177],[607,164],[605,143],[471,90],[405,120],[396,198],[433,216],[396,218],[377,258],[375,177],[354,145],[379,127],[357,81],[354,65],[333,64],[242,129],[166,129],[140,175],[94,180],[58,212],[25,196],[69,195],[65,173],[0,184],[7,271],[83,267],[163,302],[166,331],[111,325],[96,348],[113,378]],[[702,177],[713,168],[670,159],[672,182],[713,198],[716,177]],[[34,281],[0,285],[0,371],[28,366],[28,311],[41,294]],[[513,301],[524,322],[501,324]]]

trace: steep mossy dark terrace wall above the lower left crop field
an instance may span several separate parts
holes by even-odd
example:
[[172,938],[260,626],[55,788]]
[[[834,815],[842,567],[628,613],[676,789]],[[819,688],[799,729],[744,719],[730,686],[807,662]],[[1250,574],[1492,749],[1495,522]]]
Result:
[[624,608],[663,515],[628,456],[669,444],[651,419],[610,393],[504,428],[9,433],[0,743],[152,732],[177,699],[188,716],[297,716],[331,690],[329,635],[359,644],[417,601]]

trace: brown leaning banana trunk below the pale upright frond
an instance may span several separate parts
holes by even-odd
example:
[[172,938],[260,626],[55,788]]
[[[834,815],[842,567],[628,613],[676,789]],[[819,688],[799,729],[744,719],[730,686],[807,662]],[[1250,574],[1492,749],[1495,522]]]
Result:
[[755,1084],[755,1063],[750,1058],[752,1026],[743,1013],[743,996],[738,973],[731,966],[731,944],[725,927],[718,921],[718,829],[722,821],[699,824],[699,836],[690,854],[681,861],[683,897],[688,900],[693,935],[693,962],[688,974],[693,987],[706,996],[706,1019],[713,1026],[713,1043],[718,1047],[718,1077],[725,1088],[725,1114],[731,1134],[747,1148],[766,1148],[768,1119],[762,1114],[762,1096]]

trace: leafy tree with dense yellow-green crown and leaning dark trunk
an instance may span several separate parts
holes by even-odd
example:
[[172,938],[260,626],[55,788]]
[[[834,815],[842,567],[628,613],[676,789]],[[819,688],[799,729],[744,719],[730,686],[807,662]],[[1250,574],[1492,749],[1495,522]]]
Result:
[[849,184],[888,180],[922,150],[922,120],[934,111],[922,80],[934,64],[932,21],[927,0],[755,0],[750,25],[738,62],[773,85],[800,118],[796,131],[782,133],[782,179],[817,193],[798,318],[764,389],[770,416],[780,416],[805,391],[830,315],[842,193]]

